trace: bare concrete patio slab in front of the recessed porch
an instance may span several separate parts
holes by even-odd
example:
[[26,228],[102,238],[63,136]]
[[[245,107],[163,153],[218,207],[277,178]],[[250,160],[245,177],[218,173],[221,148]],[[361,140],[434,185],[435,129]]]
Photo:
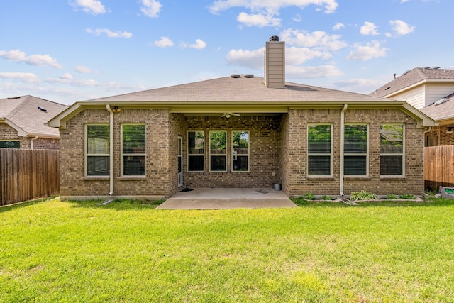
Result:
[[156,209],[259,209],[297,207],[283,192],[274,189],[194,188],[177,192]]

